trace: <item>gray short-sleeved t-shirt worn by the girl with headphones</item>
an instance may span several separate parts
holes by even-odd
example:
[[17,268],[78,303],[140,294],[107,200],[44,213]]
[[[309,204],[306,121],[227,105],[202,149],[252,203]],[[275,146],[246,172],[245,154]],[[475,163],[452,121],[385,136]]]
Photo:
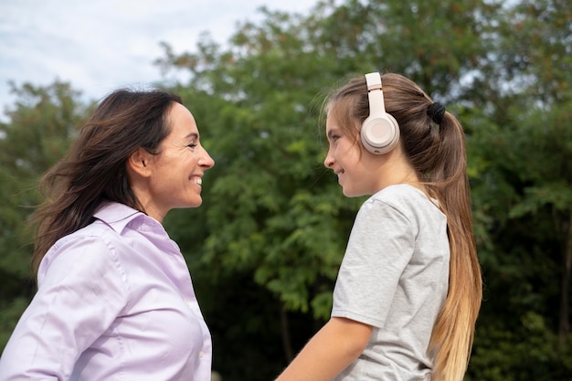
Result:
[[449,288],[447,219],[410,185],[391,185],[355,217],[334,289],[333,317],[374,326],[336,380],[429,380],[429,338]]

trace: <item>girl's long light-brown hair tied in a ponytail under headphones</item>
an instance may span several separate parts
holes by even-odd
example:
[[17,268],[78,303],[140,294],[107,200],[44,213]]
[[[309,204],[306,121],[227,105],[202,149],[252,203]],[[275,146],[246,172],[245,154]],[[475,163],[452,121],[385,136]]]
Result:
[[[410,79],[387,73],[382,75],[382,83],[386,111],[399,124],[400,143],[409,163],[447,216],[449,292],[433,327],[428,351],[434,358],[434,381],[461,381],[482,302],[464,132],[449,112],[439,125],[435,124],[427,112],[433,101]],[[348,137],[357,136],[356,130],[369,115],[365,77],[350,79],[330,96],[326,107]]]

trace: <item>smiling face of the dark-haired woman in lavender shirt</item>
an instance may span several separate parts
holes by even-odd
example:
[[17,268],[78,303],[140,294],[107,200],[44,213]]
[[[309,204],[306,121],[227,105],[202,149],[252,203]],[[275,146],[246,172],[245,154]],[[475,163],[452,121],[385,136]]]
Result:
[[200,143],[195,118],[174,102],[167,113],[171,132],[149,156],[145,211],[162,221],[174,208],[196,207],[203,202],[203,175],[215,162]]

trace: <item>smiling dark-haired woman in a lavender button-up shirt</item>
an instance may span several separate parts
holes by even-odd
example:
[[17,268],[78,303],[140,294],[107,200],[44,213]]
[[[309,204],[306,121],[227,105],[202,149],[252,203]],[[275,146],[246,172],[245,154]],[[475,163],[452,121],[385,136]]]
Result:
[[37,294],[1,380],[210,380],[210,333],[161,224],[201,205],[213,165],[177,96],[117,90],[101,102],[42,179]]

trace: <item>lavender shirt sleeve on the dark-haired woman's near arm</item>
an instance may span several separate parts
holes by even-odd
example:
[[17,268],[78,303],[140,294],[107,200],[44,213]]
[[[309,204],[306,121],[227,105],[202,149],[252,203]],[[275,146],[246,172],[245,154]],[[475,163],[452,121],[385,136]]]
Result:
[[69,379],[79,355],[127,303],[115,254],[97,237],[64,238],[48,252],[37,294],[5,347],[0,374],[15,380]]

